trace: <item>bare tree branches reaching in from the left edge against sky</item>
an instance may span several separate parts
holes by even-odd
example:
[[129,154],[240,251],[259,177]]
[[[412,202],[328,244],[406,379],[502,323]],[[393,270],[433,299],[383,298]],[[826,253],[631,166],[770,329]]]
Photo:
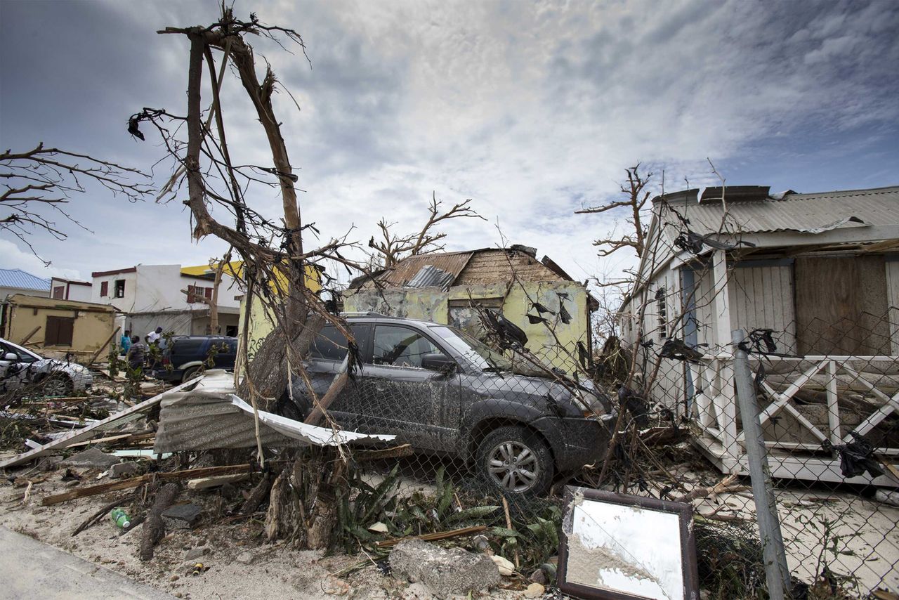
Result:
[[[5,188],[0,193],[0,210],[5,212],[0,214],[0,231],[17,237],[38,258],[28,237],[44,231],[66,239],[56,219],[89,231],[66,206],[73,193],[85,192],[85,183],[101,184],[130,201],[138,201],[151,191],[143,183],[147,175],[137,169],[59,148],[44,148],[43,142],[24,152],[7,149],[0,154],[0,179]],[[44,264],[49,266],[49,261]]]

